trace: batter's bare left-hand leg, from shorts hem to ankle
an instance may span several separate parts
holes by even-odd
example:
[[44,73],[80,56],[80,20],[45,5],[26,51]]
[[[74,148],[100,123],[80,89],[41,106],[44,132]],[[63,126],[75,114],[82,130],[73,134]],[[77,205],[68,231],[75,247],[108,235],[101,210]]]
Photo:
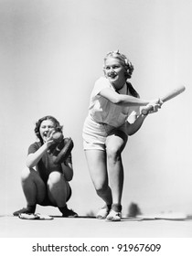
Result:
[[108,174],[106,166],[106,153],[101,150],[85,151],[91,180],[99,197],[107,205],[112,204],[112,191],[108,185]]

